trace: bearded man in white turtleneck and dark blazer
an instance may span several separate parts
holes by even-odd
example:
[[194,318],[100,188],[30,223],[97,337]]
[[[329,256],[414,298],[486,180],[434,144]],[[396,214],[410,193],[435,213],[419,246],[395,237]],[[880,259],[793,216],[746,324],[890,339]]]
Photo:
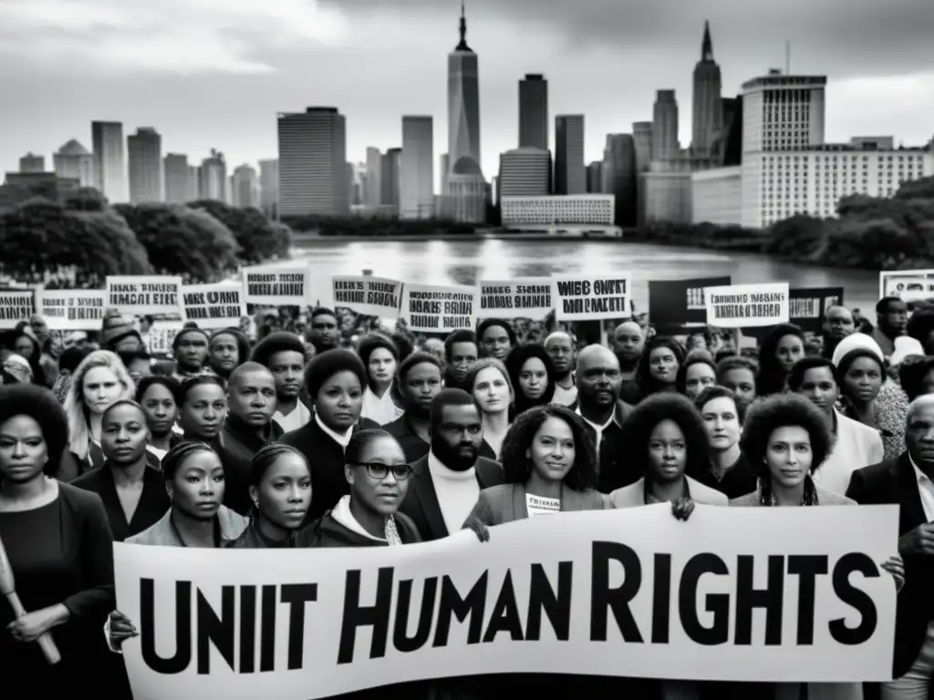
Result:
[[432,449],[412,465],[409,490],[399,509],[425,541],[458,532],[482,489],[502,483],[499,462],[480,456],[483,420],[474,397],[444,389],[430,412]]

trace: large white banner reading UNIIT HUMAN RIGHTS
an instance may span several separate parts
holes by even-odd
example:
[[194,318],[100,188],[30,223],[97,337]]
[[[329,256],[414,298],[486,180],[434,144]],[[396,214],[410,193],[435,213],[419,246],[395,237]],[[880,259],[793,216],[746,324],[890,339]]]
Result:
[[897,540],[895,506],[698,506],[682,523],[662,504],[518,521],[486,543],[118,543],[114,560],[140,633],[123,645],[135,696],[304,700],[478,673],[890,679],[880,563]]

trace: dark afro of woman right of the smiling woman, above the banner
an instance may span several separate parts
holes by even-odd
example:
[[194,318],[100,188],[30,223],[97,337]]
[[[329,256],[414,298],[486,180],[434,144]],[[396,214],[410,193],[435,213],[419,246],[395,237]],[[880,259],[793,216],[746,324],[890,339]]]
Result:
[[710,469],[710,442],[701,414],[680,394],[654,394],[638,403],[623,423],[619,454],[626,455],[629,470],[644,476],[649,472],[648,439],[664,420],[671,420],[685,434],[685,473],[697,477]]

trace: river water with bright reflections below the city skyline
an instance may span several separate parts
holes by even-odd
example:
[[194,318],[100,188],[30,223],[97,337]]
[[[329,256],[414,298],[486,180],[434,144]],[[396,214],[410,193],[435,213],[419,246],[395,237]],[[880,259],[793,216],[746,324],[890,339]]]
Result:
[[733,284],[787,281],[792,287],[843,287],[847,306],[870,317],[879,298],[878,273],[804,266],[750,253],[614,241],[323,241],[300,248],[297,256],[307,259],[323,279],[369,269],[375,276],[434,285],[629,272],[639,309],[647,306],[649,280],[725,274]]

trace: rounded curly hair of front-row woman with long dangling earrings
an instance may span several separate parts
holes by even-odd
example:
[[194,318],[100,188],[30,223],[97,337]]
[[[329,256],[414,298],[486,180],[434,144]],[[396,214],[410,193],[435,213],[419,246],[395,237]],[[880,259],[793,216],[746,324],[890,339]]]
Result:
[[753,401],[746,412],[740,449],[749,466],[761,479],[769,479],[765,455],[771,434],[780,427],[803,427],[811,441],[811,473],[820,467],[833,449],[833,433],[827,418],[814,404],[799,394],[772,394]]

